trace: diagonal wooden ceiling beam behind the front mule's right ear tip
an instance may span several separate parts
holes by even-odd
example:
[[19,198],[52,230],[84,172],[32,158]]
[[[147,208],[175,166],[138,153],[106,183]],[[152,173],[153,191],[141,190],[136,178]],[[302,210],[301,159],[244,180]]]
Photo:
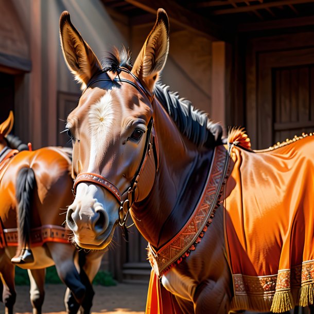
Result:
[[170,23],[180,25],[182,28],[196,31],[211,40],[230,41],[232,34],[203,16],[191,12],[178,5],[173,0],[125,0],[138,8],[149,13],[156,14],[159,8],[164,8],[169,16]]

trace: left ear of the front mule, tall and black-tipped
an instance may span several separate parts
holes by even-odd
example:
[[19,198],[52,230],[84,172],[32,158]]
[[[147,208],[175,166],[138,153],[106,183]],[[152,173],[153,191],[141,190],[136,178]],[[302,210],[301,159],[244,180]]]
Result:
[[60,41],[65,62],[75,79],[82,83],[81,89],[84,89],[101,65],[93,50],[71,23],[67,11],[60,16]]

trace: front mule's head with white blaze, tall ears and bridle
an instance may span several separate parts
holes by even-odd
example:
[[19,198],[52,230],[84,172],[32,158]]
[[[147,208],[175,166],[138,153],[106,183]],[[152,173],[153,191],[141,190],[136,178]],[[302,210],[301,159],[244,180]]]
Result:
[[[153,184],[154,177],[134,188],[141,168],[145,163],[148,167],[153,88],[166,62],[168,32],[167,14],[160,9],[134,66],[124,52],[112,54],[102,68],[69,14],[61,15],[65,62],[83,90],[66,124],[73,142],[73,173],[78,175],[66,222],[82,248],[105,248],[127,212],[128,202],[125,210],[121,203],[143,199]],[[134,193],[127,193],[130,187]]]

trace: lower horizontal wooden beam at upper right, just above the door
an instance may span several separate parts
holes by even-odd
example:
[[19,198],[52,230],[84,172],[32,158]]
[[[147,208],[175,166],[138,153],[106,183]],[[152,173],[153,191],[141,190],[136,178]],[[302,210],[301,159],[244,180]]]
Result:
[[280,29],[287,27],[302,27],[314,25],[314,15],[305,16],[303,18],[282,19],[274,21],[243,23],[237,27],[238,32],[252,32],[266,29]]

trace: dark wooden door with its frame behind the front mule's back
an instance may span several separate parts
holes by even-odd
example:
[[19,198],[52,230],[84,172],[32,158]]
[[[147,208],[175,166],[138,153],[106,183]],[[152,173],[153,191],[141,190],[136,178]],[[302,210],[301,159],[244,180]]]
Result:
[[246,74],[253,148],[314,131],[314,32],[249,41]]

